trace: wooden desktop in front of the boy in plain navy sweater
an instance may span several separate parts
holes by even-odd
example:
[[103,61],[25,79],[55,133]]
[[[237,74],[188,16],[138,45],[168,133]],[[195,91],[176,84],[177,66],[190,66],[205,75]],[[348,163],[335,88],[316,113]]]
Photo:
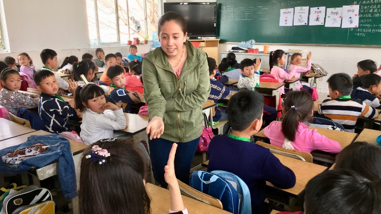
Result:
[[[296,176],[295,186],[290,189],[282,189],[283,192],[287,192],[293,197],[299,196],[299,194],[304,190],[306,184],[309,182],[309,180],[312,179],[312,177],[322,173],[324,170],[327,169],[327,167],[325,166],[308,163],[305,161],[282,156],[279,154],[273,154],[273,155],[277,157],[283,165],[289,167],[295,173],[295,176]],[[206,161],[202,165],[204,167],[208,167],[208,164],[209,164],[209,161]],[[277,188],[274,185],[272,185],[270,182],[266,182],[266,185],[273,188]]]

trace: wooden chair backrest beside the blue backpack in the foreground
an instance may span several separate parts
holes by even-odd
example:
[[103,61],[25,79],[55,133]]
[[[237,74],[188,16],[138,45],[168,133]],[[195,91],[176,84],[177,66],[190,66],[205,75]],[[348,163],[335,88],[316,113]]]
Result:
[[185,194],[186,196],[193,198],[193,199],[196,199],[196,200],[199,200],[199,201],[204,202],[206,204],[215,206],[215,207],[220,208],[220,209],[223,208],[223,205],[222,205],[220,200],[218,200],[218,199],[216,199],[216,198],[214,198],[208,194],[200,192],[200,191],[196,190],[195,188],[192,188],[192,187],[186,185],[185,183],[181,182],[180,180],[177,180],[177,182],[179,183],[180,191],[183,194]]

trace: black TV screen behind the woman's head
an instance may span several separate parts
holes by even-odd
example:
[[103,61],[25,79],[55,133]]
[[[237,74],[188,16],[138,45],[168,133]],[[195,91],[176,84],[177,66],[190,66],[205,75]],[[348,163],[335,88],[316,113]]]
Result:
[[215,37],[216,3],[164,3],[164,12],[181,14],[189,37]]

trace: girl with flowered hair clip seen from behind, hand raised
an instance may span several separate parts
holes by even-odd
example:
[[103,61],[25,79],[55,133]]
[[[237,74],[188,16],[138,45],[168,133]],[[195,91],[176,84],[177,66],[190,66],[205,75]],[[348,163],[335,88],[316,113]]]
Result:
[[[170,191],[169,213],[187,214],[175,176],[176,149],[177,144],[173,144],[164,167]],[[148,169],[143,156],[129,138],[102,139],[86,149],[79,178],[80,214],[150,214],[151,199],[144,187]]]

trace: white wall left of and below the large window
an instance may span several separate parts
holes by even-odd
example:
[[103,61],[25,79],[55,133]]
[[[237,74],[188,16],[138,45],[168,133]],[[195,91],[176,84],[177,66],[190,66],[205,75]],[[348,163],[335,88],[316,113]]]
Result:
[[[90,48],[85,0],[3,0],[3,11],[8,33],[9,53],[0,53],[0,60],[26,52],[36,68],[43,66],[40,52],[53,49],[58,64],[65,57],[82,54],[95,56],[96,48]],[[20,7],[22,6],[22,7]],[[138,53],[147,53],[151,45],[139,45]],[[129,46],[104,47],[106,54],[129,54]]]

